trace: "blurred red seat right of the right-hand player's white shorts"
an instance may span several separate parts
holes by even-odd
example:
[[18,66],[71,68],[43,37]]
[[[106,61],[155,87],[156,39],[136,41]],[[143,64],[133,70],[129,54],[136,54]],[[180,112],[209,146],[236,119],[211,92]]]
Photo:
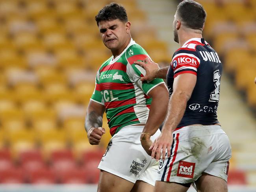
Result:
[[228,185],[246,185],[246,174],[242,170],[229,170]]

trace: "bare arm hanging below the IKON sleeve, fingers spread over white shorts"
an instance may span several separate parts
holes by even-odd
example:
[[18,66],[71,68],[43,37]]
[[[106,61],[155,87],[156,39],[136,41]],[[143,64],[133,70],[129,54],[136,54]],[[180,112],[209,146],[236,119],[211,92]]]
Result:
[[[161,151],[166,151],[167,156],[171,156],[171,144],[173,142],[173,131],[180,123],[184,112],[186,110],[187,101],[190,99],[197,76],[194,74],[180,74],[174,78],[173,94],[170,98],[167,116],[163,125],[161,135],[153,142],[150,150],[152,150],[152,158],[157,161],[161,158]],[[162,159],[165,159],[165,152],[163,152]]]

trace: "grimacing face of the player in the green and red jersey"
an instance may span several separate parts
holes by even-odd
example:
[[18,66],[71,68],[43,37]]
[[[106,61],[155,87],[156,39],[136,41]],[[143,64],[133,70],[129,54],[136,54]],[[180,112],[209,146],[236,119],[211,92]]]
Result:
[[[127,24],[129,27],[127,27]],[[119,19],[100,21],[98,28],[105,46],[110,50],[118,50],[124,45],[128,38],[130,22],[124,23]]]

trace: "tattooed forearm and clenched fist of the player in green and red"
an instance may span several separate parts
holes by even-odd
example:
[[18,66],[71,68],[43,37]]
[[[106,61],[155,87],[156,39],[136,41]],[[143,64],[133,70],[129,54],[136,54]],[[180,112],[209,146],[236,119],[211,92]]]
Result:
[[98,145],[105,129],[102,126],[102,116],[105,107],[99,103],[90,101],[85,118],[85,130],[91,145]]

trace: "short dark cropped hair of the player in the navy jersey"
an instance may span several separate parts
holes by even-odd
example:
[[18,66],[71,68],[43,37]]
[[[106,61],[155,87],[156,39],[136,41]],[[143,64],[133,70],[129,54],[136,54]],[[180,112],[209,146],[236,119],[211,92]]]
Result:
[[187,28],[191,29],[202,28],[206,20],[204,7],[193,0],[184,0],[178,4],[177,14]]

